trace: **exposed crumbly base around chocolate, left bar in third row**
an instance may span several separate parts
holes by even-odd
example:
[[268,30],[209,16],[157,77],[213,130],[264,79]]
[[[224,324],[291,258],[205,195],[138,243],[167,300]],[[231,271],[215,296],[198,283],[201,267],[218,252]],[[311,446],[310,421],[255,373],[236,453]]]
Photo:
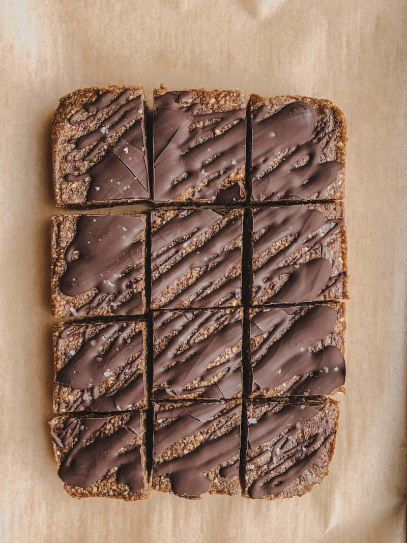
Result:
[[[137,326],[142,330],[143,334],[143,344],[144,346],[147,345],[147,328],[146,324],[143,321],[126,321],[127,324],[137,324]],[[77,413],[80,411],[85,410],[92,410],[92,404],[86,406],[86,407],[80,407],[71,409],[69,406],[72,405],[78,398],[81,396],[81,390],[79,389],[72,389],[70,387],[63,386],[61,383],[56,381],[56,372],[59,371],[61,368],[63,368],[69,361],[69,357],[67,356],[67,353],[70,350],[74,350],[77,352],[80,349],[80,346],[84,340],[84,333],[85,330],[92,329],[92,332],[95,334],[105,326],[109,326],[111,324],[116,324],[112,322],[106,322],[106,323],[84,323],[84,324],[74,324],[71,326],[67,326],[63,323],[59,324],[58,326],[53,327],[53,349],[54,349],[54,370],[55,370],[55,376],[54,376],[54,390],[53,390],[53,409],[54,413]],[[59,338],[59,334],[62,330],[72,330],[72,331],[82,331],[83,333],[81,335],[79,334],[73,334],[69,338],[61,339]],[[143,353],[138,358],[137,362],[137,368],[139,369],[139,372],[143,374],[144,379],[144,390],[145,390],[145,396],[144,398],[137,402],[132,409],[145,409],[147,408],[147,359],[145,355],[145,347],[143,350]],[[106,383],[101,385],[99,388],[104,389],[109,386],[111,386],[115,382],[115,377],[117,374],[120,373],[120,368],[110,376]]]

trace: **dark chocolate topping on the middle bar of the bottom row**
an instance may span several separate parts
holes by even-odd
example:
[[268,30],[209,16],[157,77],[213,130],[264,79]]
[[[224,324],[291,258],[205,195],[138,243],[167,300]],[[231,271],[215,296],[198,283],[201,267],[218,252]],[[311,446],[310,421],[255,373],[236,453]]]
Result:
[[[207,492],[211,482],[205,472],[220,464],[236,460],[240,449],[240,404],[194,403],[166,411],[155,408],[154,475],[170,479],[173,492],[197,498]],[[208,430],[210,432],[208,434]],[[182,440],[199,434],[192,451]],[[179,444],[182,456],[164,454]]]

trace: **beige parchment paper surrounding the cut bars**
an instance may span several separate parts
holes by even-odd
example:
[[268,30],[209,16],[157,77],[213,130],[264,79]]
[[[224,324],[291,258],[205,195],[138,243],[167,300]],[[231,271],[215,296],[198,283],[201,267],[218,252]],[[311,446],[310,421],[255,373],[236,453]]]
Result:
[[[402,542],[406,510],[406,84],[402,0],[5,0],[1,64],[0,538]],[[76,501],[55,472],[50,127],[79,87],[245,89],[348,120],[347,394],[330,475],[275,502]]]

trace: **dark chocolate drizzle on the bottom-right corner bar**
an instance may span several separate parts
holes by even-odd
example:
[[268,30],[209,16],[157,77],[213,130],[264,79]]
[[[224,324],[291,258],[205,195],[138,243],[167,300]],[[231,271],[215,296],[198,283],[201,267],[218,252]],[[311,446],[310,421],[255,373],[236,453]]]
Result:
[[[256,407],[250,406],[248,452],[272,441],[265,449],[260,449],[254,459],[268,453],[255,480],[250,484],[249,496],[260,498],[264,495],[278,494],[294,482],[313,465],[335,437],[334,428],[326,424],[312,424],[318,409],[310,406],[272,407],[264,414],[257,415]],[[314,435],[301,437],[304,425],[317,428]],[[318,423],[318,421],[316,421]],[[307,433],[309,435],[309,432]],[[247,457],[246,469],[250,471],[253,456]]]

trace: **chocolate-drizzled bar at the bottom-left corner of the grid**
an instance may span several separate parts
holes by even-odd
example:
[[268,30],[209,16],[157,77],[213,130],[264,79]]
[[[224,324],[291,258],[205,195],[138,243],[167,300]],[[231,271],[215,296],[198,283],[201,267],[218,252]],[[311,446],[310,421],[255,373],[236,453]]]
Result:
[[147,498],[142,412],[60,416],[50,427],[58,475],[68,494],[75,498]]

